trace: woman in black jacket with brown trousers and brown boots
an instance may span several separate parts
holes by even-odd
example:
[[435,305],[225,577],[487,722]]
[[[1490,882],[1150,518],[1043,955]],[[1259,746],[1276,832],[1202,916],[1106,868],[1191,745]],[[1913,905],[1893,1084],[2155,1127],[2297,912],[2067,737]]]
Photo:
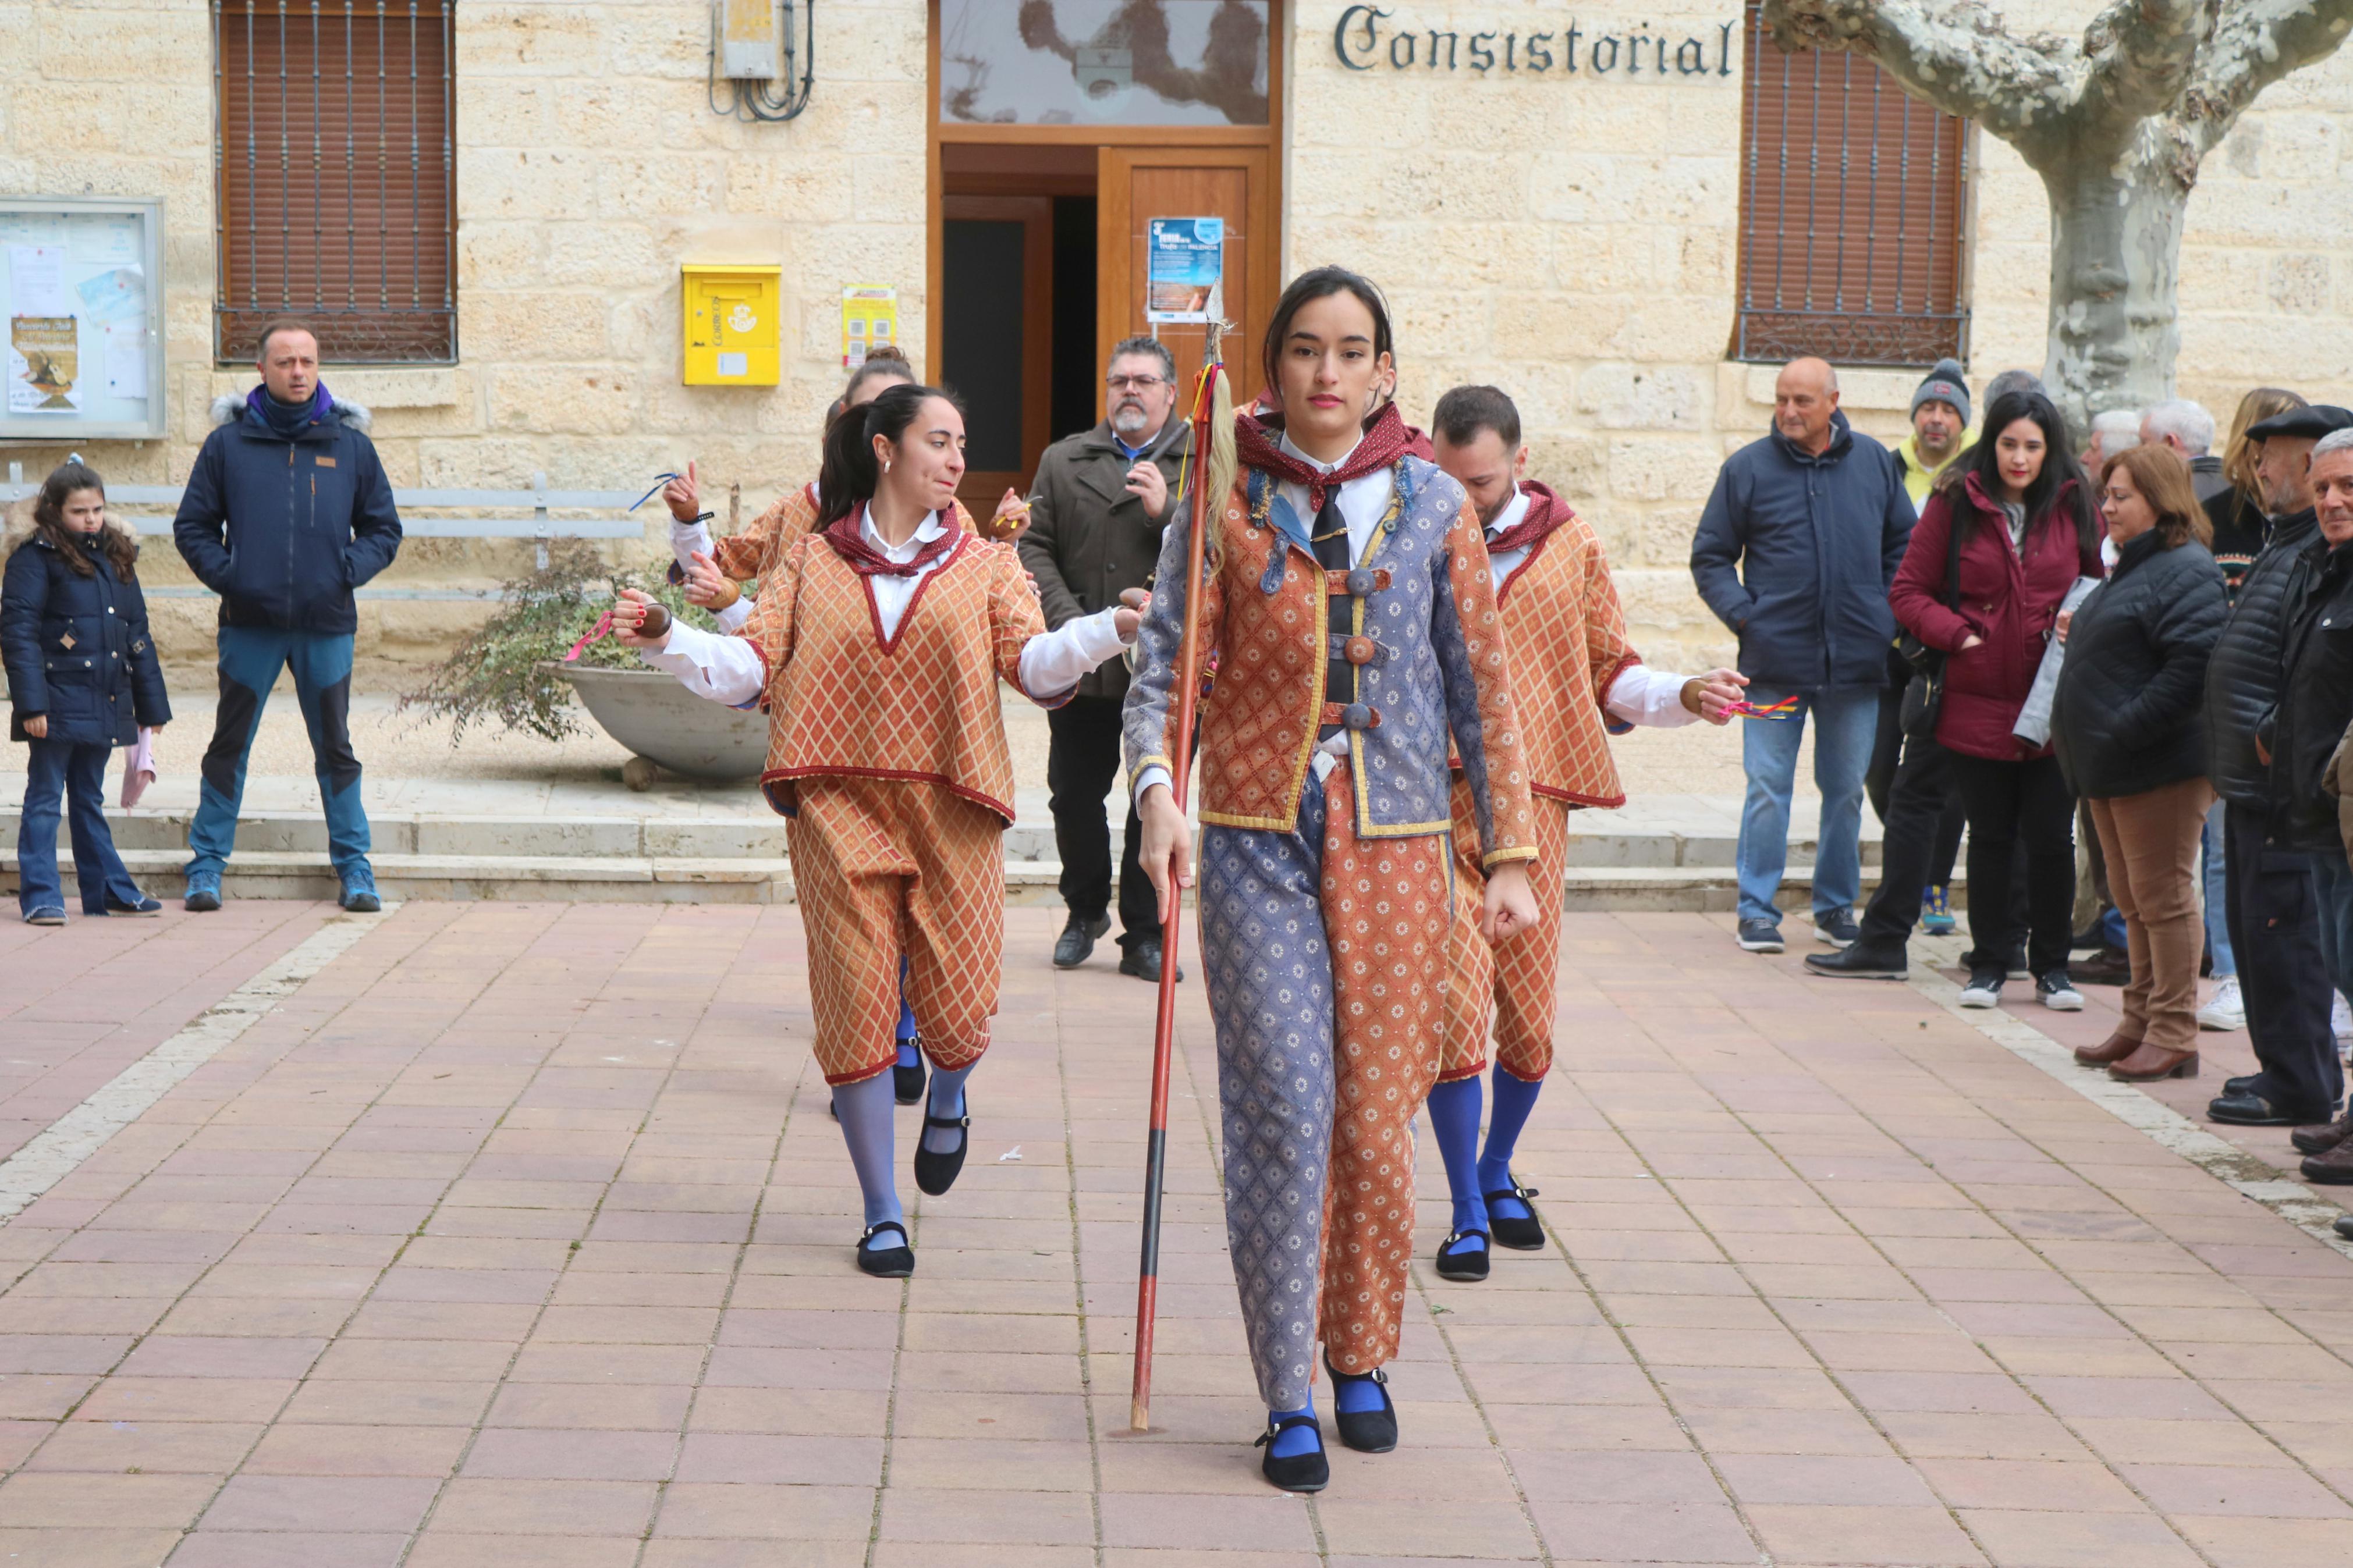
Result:
[[2099,477],[2115,574],[2085,599],[2059,670],[2054,738],[2092,809],[2108,889],[2125,917],[2125,1016],[2075,1060],[2125,1081],[2198,1072],[2198,835],[2205,670],[2224,621],[2224,576],[2191,468],[2172,447],[2118,451]]

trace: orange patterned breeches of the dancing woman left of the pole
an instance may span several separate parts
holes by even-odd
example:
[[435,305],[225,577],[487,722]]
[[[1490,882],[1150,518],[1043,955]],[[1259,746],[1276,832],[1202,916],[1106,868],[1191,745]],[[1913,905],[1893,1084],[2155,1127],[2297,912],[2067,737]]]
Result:
[[899,1060],[899,959],[922,1051],[988,1048],[1005,957],[1005,818],[913,778],[802,778],[786,827],[828,1084]]

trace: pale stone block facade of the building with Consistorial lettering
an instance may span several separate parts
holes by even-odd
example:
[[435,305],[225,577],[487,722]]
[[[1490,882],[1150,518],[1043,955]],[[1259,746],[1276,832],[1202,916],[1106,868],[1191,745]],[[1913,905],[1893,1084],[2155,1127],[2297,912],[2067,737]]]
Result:
[[[1068,2],[1068,0],[1066,0]],[[2005,0],[2012,16],[2021,0]],[[1007,24],[1016,0],[1002,0]],[[1727,651],[1689,590],[1692,524],[1722,454],[1755,440],[1772,369],[1727,357],[1739,266],[1741,61],[1654,47],[1647,73],[1353,68],[1332,0],[1275,5],[1280,254],[1344,261],[1398,310],[1400,400],[1421,416],[1464,378],[1511,388],[1537,468],[1595,520],[1659,661]],[[1584,28],[1739,38],[1739,0],[1393,0],[1395,28],[1461,35]],[[2092,0],[2042,0],[2080,26]],[[932,28],[927,0],[816,0],[809,108],[746,125],[708,106],[704,0],[466,0],[454,12],[454,364],[339,367],[376,411],[395,484],[642,487],[694,456],[713,494],[755,508],[807,475],[838,390],[840,292],[899,289],[901,339],[929,334]],[[1713,47],[1713,45],[1711,45]],[[214,45],[207,0],[0,5],[0,195],[165,202],[167,437],[94,442],[118,482],[176,482],[207,404],[252,386],[214,362]],[[1668,71],[1668,66],[1675,66]],[[2346,127],[2353,56],[2271,89],[2217,150],[2181,266],[2184,395],[2228,418],[2259,381],[2353,397]],[[1972,136],[1969,378],[2042,362],[2040,181]],[[776,388],[680,386],[680,263],[784,270]],[[1889,440],[1918,371],[1845,374],[1854,421]],[[38,477],[64,444],[7,442]],[[160,541],[158,541],[160,543]],[[468,590],[513,543],[414,541],[398,585]],[[155,583],[186,583],[169,550]],[[393,578],[388,578],[393,581]],[[475,616],[454,597],[372,599],[365,651],[426,658]],[[202,599],[167,644],[200,651]]]

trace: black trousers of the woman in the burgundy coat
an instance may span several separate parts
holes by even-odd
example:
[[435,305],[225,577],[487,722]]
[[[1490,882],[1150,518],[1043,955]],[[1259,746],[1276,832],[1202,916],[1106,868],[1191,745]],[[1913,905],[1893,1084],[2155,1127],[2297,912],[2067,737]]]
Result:
[[2057,757],[1991,762],[1946,752],[1969,809],[1969,936],[1988,961],[2019,943],[2012,877],[2026,851],[2026,969],[2066,969],[2075,917],[2075,795]]

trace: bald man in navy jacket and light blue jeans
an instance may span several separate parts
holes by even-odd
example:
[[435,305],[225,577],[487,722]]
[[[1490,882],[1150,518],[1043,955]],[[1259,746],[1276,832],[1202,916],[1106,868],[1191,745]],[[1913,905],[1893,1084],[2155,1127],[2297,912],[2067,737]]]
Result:
[[1741,642],[1748,701],[1762,708],[1795,698],[1788,719],[1744,731],[1739,945],[1748,952],[1781,952],[1774,893],[1788,860],[1788,799],[1807,715],[1821,788],[1814,936],[1833,947],[1854,940],[1864,771],[1894,637],[1887,585],[1911,529],[1904,473],[1885,447],[1847,425],[1838,374],[1821,360],[1791,360],[1774,383],[1772,435],[1725,461],[1692,541],[1692,581]]

